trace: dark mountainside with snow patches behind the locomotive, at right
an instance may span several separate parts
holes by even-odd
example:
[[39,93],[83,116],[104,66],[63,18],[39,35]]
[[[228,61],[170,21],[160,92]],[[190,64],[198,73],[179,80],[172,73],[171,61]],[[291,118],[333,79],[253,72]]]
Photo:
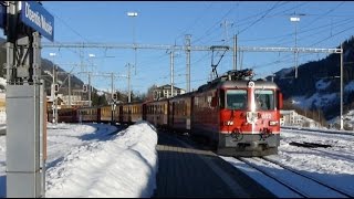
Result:
[[[340,49],[340,46],[337,46]],[[341,65],[340,54],[302,64],[294,69],[282,69],[273,78],[284,100],[303,111],[321,112],[326,121],[340,115]],[[271,80],[268,76],[267,80]],[[343,114],[354,107],[354,38],[343,42]]]

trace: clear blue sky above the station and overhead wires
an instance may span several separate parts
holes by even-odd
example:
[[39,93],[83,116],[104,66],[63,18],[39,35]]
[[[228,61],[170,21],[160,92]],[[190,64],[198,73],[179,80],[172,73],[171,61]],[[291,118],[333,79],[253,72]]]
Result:
[[[239,46],[336,48],[354,32],[354,2],[350,1],[43,1],[54,15],[54,40],[58,43],[93,42],[106,44],[184,45],[191,34],[191,45],[232,45],[238,34]],[[127,17],[134,11],[138,15]],[[299,22],[290,17],[301,14]],[[227,28],[221,25],[228,22]],[[134,34],[133,34],[134,32]],[[225,40],[227,42],[225,42]],[[49,43],[46,39],[43,43]],[[49,54],[54,52],[56,56]],[[90,57],[88,54],[94,54]],[[52,49],[43,48],[42,56],[54,60],[64,70],[84,70],[73,64],[83,62],[95,73],[127,74],[135,54],[129,49]],[[215,54],[215,62],[220,54]],[[300,54],[299,64],[325,57],[326,54]],[[254,70],[264,77],[294,66],[293,53],[243,52],[238,66]],[[170,83],[170,56],[166,50],[137,50],[132,88],[145,93],[153,84]],[[186,53],[176,52],[176,86],[186,88]],[[208,81],[211,52],[191,52],[191,88]],[[221,74],[232,69],[232,52],[226,53],[218,66]],[[77,75],[87,82],[86,75]],[[94,76],[93,86],[111,90],[111,78]],[[115,80],[115,88],[127,91],[125,77]]]

